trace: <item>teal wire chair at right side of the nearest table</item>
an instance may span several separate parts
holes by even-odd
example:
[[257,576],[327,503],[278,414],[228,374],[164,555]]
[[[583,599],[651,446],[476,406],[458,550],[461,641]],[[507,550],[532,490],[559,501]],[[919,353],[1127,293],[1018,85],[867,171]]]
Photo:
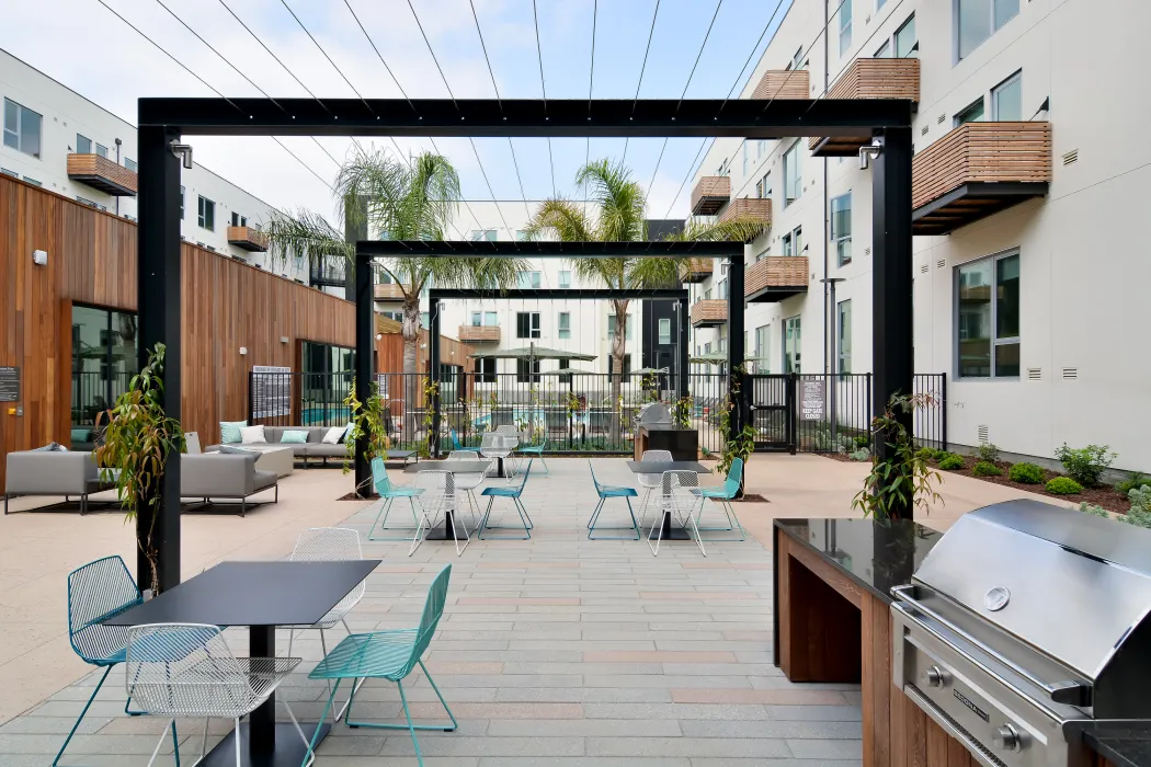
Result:
[[[432,582],[427,599],[424,601],[424,614],[420,618],[419,628],[353,634],[336,645],[320,661],[320,665],[308,674],[308,678],[312,680],[335,680],[335,687],[331,690],[331,695],[328,696],[328,703],[323,707],[323,713],[320,714],[320,724],[328,718],[328,711],[336,698],[336,691],[340,690],[340,683],[343,680],[351,680],[352,695],[348,700],[348,710],[344,718],[346,724],[351,728],[406,729],[412,736],[412,745],[416,747],[416,759],[421,767],[424,765],[424,756],[420,753],[420,742],[416,737],[416,731],[443,730],[444,733],[452,733],[459,727],[456,722],[456,716],[451,713],[451,708],[448,707],[448,701],[443,699],[443,693],[440,692],[440,688],[436,687],[435,681],[424,665],[424,653],[427,651],[436,626],[440,623],[440,616],[443,615],[443,606],[448,599],[449,580],[451,580],[451,565],[440,570],[440,574]],[[420,667],[432,689],[435,690],[436,697],[443,704],[443,710],[448,712],[451,727],[448,727],[447,722],[441,724],[416,724],[412,722],[412,714],[407,708],[407,696],[404,693],[403,681],[416,669],[416,666]],[[356,699],[356,691],[359,689],[358,683],[360,680],[368,678],[387,680],[396,683],[396,689],[399,690],[399,700],[404,706],[404,719],[407,720],[406,724],[359,722],[352,720],[352,704]],[[320,726],[317,726],[315,735],[312,736],[312,743],[308,745],[307,753],[305,754],[305,761],[312,756],[319,735]]]

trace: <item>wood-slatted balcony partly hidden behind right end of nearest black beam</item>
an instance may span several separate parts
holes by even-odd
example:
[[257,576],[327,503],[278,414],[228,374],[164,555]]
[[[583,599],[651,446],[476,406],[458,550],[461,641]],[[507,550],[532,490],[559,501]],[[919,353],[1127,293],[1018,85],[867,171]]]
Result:
[[[828,91],[829,99],[920,100],[918,59],[856,59]],[[817,158],[857,155],[871,143],[870,131],[859,136],[813,136],[808,148]]]

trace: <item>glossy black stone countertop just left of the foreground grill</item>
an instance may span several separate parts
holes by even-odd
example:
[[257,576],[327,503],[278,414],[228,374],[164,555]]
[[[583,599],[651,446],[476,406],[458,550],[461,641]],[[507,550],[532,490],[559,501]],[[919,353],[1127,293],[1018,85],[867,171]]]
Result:
[[910,583],[912,573],[943,537],[907,521],[776,520],[776,527],[887,604],[892,586]]

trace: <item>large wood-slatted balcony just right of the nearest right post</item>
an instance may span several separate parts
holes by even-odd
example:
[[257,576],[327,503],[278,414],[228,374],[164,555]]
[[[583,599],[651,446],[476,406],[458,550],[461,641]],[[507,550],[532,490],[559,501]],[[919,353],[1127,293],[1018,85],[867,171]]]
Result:
[[967,123],[912,161],[912,232],[946,235],[1051,182],[1051,123]]

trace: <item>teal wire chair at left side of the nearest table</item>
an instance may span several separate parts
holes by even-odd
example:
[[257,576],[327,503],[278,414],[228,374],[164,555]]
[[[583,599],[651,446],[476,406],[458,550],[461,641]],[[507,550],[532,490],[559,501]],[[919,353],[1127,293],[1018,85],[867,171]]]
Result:
[[[100,681],[97,682],[92,696],[73,724],[71,731],[60,746],[60,753],[52,760],[56,767],[64,749],[71,743],[76,729],[92,707],[97,693],[108,678],[112,667],[124,662],[128,649],[128,627],[104,626],[104,621],[115,618],[136,605],[143,604],[139,586],[128,572],[128,566],[120,557],[105,557],[89,562],[68,574],[68,641],[73,651],[81,660],[97,668],[104,668]],[[129,711],[131,697],[124,703],[124,713],[139,715],[144,712]],[[176,727],[171,728],[173,743],[176,742]],[[178,759],[178,757],[177,757]],[[178,761],[177,761],[178,765]]]

